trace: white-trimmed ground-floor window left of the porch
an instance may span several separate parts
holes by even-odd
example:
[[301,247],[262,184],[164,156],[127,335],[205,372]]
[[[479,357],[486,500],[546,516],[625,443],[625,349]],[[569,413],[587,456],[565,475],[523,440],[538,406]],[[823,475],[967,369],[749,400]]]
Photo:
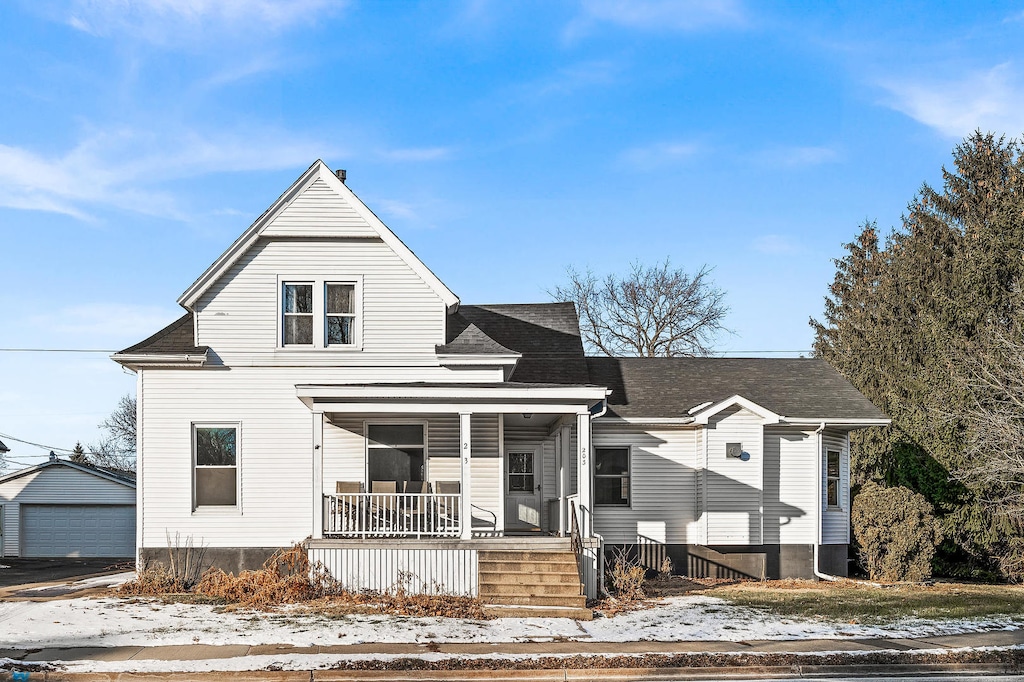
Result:
[[237,424],[193,426],[193,509],[239,504]]

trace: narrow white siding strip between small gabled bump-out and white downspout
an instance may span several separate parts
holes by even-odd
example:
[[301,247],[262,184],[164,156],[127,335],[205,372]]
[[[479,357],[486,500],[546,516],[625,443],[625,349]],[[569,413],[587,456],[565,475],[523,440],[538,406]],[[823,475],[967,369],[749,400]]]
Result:
[[816,443],[813,431],[765,429],[765,544],[809,545],[815,541]]

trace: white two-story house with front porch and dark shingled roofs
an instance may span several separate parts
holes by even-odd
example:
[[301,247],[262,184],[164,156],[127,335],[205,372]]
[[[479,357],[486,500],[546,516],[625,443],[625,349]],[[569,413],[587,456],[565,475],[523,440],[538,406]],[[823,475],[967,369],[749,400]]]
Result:
[[[140,562],[168,534],[236,570],[307,541],[352,589],[537,604],[564,602],[545,581],[595,596],[612,546],[846,573],[848,434],[888,420],[826,364],[587,357],[571,303],[463,305],[343,178],[314,163],[114,355]],[[544,578],[567,552],[579,572]],[[541,576],[519,595],[514,565]]]

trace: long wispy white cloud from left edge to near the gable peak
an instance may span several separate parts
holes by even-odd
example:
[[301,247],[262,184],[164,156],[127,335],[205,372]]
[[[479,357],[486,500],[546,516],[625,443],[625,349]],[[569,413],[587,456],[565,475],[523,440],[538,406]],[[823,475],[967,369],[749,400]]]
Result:
[[96,208],[185,220],[162,181],[215,172],[305,167],[337,152],[276,130],[201,135],[121,129],[53,156],[0,144],[0,206],[92,218]]

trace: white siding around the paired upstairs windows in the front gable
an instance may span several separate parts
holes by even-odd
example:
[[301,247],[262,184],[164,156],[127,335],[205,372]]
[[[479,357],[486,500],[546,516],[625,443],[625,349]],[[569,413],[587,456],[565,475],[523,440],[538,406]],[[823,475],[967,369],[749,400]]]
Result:
[[[313,276],[361,278],[361,350],[278,348],[279,285]],[[436,367],[435,345],[444,342],[443,302],[380,240],[261,240],[200,299],[196,312],[199,343],[229,366]]]

